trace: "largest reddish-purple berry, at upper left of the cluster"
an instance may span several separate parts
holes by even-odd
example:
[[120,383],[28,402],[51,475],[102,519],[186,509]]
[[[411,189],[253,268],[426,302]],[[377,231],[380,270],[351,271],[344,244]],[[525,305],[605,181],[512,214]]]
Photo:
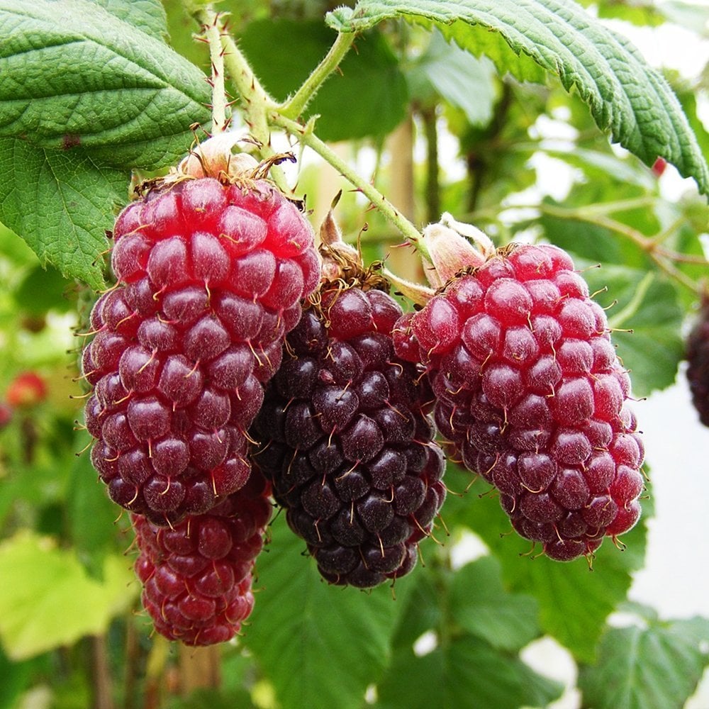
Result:
[[265,179],[178,174],[118,216],[116,287],[83,353],[91,459],[113,501],[174,525],[245,484],[245,432],[319,264]]

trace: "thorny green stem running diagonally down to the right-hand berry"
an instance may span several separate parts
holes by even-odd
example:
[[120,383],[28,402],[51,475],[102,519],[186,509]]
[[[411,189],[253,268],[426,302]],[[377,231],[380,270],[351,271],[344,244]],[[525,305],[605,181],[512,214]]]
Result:
[[296,121],[291,121],[290,118],[281,116],[281,114],[277,111],[270,114],[269,121],[272,125],[278,125],[279,128],[283,128],[287,133],[294,135],[301,145],[307,145],[318,153],[323,160],[329,162],[338,172],[340,172],[342,177],[345,177],[345,179],[351,182],[360,192],[362,192],[362,194],[364,194],[364,196],[367,197],[367,199],[369,199],[370,202],[372,202],[376,208],[379,209],[384,217],[401,232],[403,237],[411,242],[411,245],[418,250],[420,255],[430,258],[428,256],[428,251],[423,245],[418,229],[415,228],[415,226],[405,216],[403,216],[403,214],[398,211],[373,184],[367,182],[367,180],[359,175],[349,164],[347,164],[347,162],[345,162],[345,160],[342,160],[336,152],[323,143],[323,141],[313,133],[310,125],[301,125]]

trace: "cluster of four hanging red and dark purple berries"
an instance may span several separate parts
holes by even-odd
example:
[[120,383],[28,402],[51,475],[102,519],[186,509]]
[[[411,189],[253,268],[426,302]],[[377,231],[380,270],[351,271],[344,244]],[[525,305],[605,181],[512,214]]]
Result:
[[518,246],[461,270],[438,240],[439,290],[404,315],[331,214],[318,257],[296,205],[220,150],[118,216],[117,283],[82,357],[91,460],[130,510],[158,632],[238,632],[270,496],[331,584],[408,574],[445,500],[436,427],[553,559],[635,524],[630,381],[564,252]]

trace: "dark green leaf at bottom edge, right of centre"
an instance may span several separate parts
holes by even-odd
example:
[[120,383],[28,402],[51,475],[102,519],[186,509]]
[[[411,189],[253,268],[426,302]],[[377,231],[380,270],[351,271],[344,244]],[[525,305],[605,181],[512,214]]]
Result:
[[546,706],[559,697],[562,686],[540,676],[518,657],[466,634],[423,657],[417,657],[411,647],[398,650],[377,690],[376,706],[381,709],[513,709]]

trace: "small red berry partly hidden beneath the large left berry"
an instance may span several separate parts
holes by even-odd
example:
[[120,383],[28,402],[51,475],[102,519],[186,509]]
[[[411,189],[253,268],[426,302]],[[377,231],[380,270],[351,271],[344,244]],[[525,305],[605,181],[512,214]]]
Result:
[[187,645],[225,642],[239,632],[254,606],[252,569],[271,516],[269,493],[253,471],[210,512],[173,528],[130,515],[143,607],[157,632]]

